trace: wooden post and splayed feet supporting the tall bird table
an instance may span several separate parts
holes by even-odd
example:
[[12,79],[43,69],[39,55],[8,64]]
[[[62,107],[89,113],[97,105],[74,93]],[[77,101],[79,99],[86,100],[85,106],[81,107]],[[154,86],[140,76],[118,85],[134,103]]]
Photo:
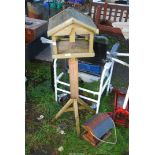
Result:
[[80,119],[79,109],[87,109],[92,113],[95,113],[82,99],[79,98],[78,91],[78,60],[76,58],[68,59],[69,73],[70,73],[70,99],[64,105],[64,107],[56,114],[53,120],[58,119],[64,112],[74,111],[76,120],[77,135],[80,135]]

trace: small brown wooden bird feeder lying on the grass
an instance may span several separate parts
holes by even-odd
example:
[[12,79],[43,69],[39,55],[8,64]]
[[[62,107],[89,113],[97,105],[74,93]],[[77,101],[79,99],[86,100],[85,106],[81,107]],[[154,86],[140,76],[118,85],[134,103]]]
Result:
[[114,125],[108,114],[99,113],[86,121],[82,127],[85,129],[83,138],[93,146],[96,146],[101,139],[105,140],[111,135],[110,130],[114,128]]

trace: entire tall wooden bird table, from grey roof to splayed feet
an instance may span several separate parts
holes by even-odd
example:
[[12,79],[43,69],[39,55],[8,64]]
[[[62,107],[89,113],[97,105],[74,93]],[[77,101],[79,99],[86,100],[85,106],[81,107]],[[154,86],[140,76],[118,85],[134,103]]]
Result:
[[94,34],[98,29],[90,17],[78,12],[74,8],[67,8],[49,19],[48,36],[52,37],[54,59],[68,60],[70,73],[70,99],[56,114],[55,119],[64,112],[73,111],[76,120],[77,134],[80,135],[79,109],[91,109],[78,92],[78,60],[82,57],[94,57]]

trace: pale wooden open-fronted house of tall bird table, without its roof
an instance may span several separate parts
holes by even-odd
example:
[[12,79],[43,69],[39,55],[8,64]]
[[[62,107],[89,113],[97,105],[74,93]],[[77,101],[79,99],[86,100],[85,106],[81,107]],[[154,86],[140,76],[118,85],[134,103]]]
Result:
[[[64,34],[66,34],[68,38],[65,38]],[[78,36],[81,35],[82,38],[77,38],[76,34],[78,34]],[[52,40],[56,42],[56,44],[53,45],[54,59],[95,56],[93,50],[94,33],[79,24],[71,24],[54,33]]]

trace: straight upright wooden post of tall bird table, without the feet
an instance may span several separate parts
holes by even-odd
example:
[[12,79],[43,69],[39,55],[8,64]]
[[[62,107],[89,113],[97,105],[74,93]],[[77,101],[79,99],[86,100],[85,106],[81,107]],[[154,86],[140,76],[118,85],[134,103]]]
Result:
[[78,60],[71,58],[68,60],[70,75],[70,92],[71,99],[78,99]]

